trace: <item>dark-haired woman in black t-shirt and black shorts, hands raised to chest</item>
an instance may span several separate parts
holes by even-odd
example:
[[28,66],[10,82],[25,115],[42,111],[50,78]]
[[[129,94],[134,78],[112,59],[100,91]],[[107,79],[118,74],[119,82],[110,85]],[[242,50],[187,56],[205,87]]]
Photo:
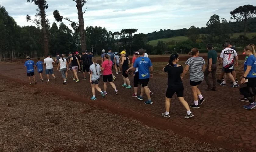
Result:
[[189,105],[187,101],[184,99],[183,91],[183,83],[180,78],[180,74],[183,72],[182,65],[177,64],[179,62],[179,55],[178,54],[172,54],[170,56],[170,60],[168,64],[163,68],[164,72],[168,72],[168,88],[166,90],[165,95],[165,113],[162,113],[163,117],[170,118],[169,115],[170,112],[170,102],[171,98],[176,92],[178,99],[183,104],[183,106],[187,110],[187,115],[185,116],[186,119],[193,117],[194,115],[191,113],[189,109]]

